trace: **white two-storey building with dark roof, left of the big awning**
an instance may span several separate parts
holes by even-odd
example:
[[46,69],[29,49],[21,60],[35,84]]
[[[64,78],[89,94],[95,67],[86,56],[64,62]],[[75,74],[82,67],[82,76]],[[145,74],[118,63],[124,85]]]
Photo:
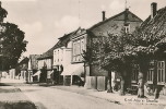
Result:
[[54,50],[54,77],[56,84],[70,84],[68,66],[71,64],[72,33],[59,38]]

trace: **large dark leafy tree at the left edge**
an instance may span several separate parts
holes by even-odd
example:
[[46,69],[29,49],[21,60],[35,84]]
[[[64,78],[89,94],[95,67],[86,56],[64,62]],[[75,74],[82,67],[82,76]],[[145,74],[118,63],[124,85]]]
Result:
[[24,32],[22,32],[17,25],[3,22],[8,12],[1,7],[0,12],[2,12],[0,13],[2,65],[3,70],[9,70],[16,65],[22,52],[26,51],[27,41],[24,40]]

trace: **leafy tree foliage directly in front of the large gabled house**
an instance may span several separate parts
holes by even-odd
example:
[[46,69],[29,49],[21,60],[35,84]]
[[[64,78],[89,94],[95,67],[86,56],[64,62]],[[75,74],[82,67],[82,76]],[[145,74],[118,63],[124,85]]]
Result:
[[98,45],[98,63],[107,71],[122,72],[127,62],[132,60],[132,46],[129,45],[130,35],[112,35],[97,37],[94,45]]

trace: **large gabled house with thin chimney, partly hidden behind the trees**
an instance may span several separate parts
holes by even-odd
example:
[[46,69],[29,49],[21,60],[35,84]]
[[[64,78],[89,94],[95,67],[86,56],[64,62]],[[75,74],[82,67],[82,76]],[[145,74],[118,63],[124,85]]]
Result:
[[[108,73],[100,70],[98,64],[86,64],[86,66],[84,64],[84,59],[82,58],[83,50],[86,51],[87,47],[91,47],[91,43],[96,39],[95,37],[108,36],[108,34],[118,36],[121,35],[122,31],[131,34],[142,23],[142,20],[130,12],[129,9],[109,19],[106,19],[105,12],[103,12],[102,17],[102,22],[88,29],[80,28],[72,37],[72,64],[82,64],[82,68],[84,68],[82,76],[108,76]],[[95,77],[94,81],[96,81]],[[86,83],[88,84],[88,82]]]

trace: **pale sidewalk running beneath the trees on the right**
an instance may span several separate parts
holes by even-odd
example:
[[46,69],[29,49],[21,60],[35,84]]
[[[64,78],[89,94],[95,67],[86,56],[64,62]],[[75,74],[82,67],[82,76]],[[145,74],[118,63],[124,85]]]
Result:
[[154,96],[147,96],[147,98],[138,98],[137,95],[124,95],[120,96],[119,92],[107,93],[98,92],[96,89],[86,89],[85,87],[79,86],[51,86],[67,92],[78,93],[85,96],[93,96],[96,98],[105,99],[115,104],[141,104],[141,105],[164,105],[166,106],[166,96],[161,95],[159,99],[154,99]]

